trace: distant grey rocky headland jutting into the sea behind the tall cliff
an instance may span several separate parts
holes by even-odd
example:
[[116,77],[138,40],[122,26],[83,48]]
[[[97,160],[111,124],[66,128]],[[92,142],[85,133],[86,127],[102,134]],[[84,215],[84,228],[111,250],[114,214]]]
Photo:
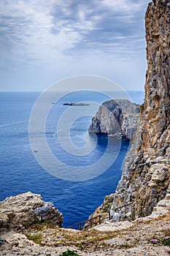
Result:
[[88,129],[89,132],[131,138],[136,131],[139,118],[139,105],[126,100],[115,99],[104,102]]

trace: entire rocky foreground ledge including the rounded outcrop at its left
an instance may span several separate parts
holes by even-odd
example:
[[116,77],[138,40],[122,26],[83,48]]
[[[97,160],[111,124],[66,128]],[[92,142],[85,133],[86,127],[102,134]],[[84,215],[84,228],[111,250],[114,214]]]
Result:
[[3,224],[0,227],[0,255],[170,254],[170,189],[148,217],[131,222],[105,221],[101,225],[82,231],[58,227],[62,225],[62,215],[53,206],[49,207],[40,195],[31,192],[2,201],[0,212]]

